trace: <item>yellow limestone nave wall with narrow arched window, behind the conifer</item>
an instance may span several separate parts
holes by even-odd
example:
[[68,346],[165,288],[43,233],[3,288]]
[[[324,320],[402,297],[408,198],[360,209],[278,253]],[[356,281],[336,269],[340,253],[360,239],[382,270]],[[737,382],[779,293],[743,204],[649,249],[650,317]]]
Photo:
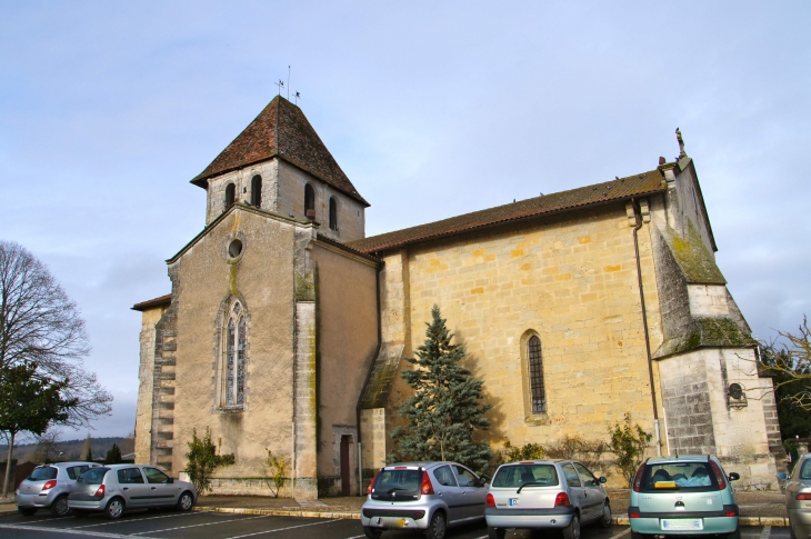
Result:
[[[650,224],[639,238],[655,347],[661,327]],[[494,406],[485,436],[495,447],[507,440],[549,443],[564,435],[605,439],[608,425],[625,412],[653,431],[632,228],[623,206],[413,246],[408,276],[408,348],[422,343],[424,322],[439,305],[465,347],[468,368],[484,380]],[[383,333],[397,331],[397,318],[384,318]],[[524,405],[529,379],[521,347],[531,332],[541,339],[547,413],[528,415]],[[399,369],[408,367],[401,362]],[[388,411],[394,415],[408,395],[398,373]]]

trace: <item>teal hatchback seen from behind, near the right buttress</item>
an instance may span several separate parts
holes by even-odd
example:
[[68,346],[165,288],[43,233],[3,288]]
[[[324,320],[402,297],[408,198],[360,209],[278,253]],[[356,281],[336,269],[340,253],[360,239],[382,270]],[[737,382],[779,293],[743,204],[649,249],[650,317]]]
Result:
[[738,503],[721,462],[708,455],[648,459],[633,478],[631,539],[644,536],[725,536],[740,539]]

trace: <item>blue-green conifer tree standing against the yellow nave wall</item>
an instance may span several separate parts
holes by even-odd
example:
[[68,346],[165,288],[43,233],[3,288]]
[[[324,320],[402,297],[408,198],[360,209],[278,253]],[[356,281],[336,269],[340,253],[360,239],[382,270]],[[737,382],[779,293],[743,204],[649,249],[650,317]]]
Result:
[[451,343],[453,333],[438,306],[431,316],[417,358],[406,358],[415,368],[403,371],[402,378],[414,395],[400,406],[400,416],[408,425],[391,433],[398,448],[389,460],[452,460],[480,472],[492,451],[487,440],[474,442],[473,432],[490,427],[484,413],[492,406],[479,402],[484,398],[484,382],[459,365],[464,348]]

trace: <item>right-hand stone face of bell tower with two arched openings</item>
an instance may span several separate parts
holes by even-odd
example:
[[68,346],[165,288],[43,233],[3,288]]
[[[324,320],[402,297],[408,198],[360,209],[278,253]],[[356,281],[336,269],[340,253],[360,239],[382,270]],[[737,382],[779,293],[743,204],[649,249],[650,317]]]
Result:
[[[320,233],[340,242],[366,237],[363,204],[286,161],[279,161],[278,167],[278,202],[273,211],[282,216],[292,214],[297,219],[306,219],[304,186],[309,183],[316,191],[316,221],[320,224]],[[338,203],[338,230],[330,229],[331,198]]]

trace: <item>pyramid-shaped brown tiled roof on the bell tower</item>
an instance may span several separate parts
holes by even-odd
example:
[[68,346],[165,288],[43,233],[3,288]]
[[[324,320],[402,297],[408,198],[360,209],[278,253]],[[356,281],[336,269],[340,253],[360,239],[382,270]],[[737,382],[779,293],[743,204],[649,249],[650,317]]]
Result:
[[301,109],[281,96],[273,98],[191,182],[207,188],[210,178],[274,157],[369,206],[338,166]]

